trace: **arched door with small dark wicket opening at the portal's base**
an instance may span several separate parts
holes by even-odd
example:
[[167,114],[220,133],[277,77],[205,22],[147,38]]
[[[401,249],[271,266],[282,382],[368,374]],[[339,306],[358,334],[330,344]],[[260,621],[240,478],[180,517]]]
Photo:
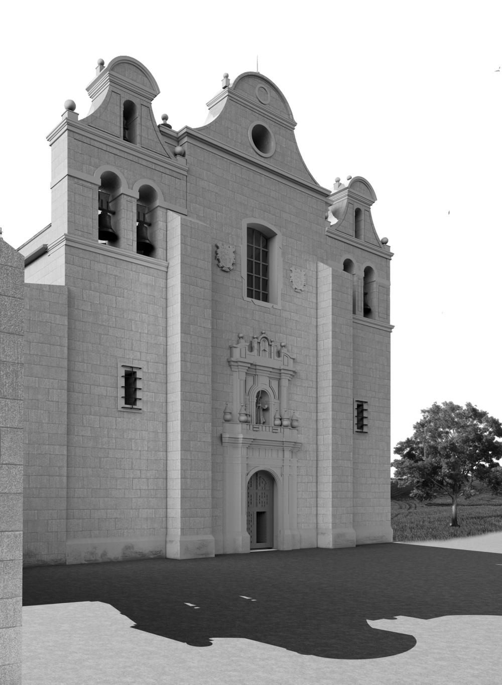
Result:
[[250,549],[274,546],[274,480],[268,471],[253,473],[247,483],[247,532]]

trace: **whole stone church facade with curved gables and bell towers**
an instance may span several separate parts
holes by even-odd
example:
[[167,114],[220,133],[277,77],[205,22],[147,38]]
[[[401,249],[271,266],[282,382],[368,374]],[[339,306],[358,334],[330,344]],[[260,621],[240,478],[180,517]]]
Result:
[[99,60],[47,136],[25,258],[24,563],[392,541],[389,270],[371,184],[319,186],[258,72],[200,128]]

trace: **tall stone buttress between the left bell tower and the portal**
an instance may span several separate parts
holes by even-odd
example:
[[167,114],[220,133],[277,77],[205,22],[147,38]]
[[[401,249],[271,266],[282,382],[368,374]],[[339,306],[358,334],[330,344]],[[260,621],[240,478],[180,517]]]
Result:
[[166,556],[214,556],[211,510],[211,265],[208,226],[167,225]]

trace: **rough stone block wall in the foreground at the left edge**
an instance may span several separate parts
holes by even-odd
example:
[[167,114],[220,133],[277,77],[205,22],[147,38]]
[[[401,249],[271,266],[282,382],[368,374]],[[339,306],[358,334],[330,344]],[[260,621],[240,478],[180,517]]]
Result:
[[0,237],[0,683],[21,685],[24,258]]

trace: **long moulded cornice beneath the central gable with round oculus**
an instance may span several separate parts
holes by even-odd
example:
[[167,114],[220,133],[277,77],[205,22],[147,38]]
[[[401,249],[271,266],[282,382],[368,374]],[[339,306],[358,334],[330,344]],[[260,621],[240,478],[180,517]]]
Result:
[[287,171],[283,171],[275,166],[266,164],[265,162],[262,162],[262,160],[257,160],[251,157],[251,155],[247,155],[240,150],[236,150],[234,147],[229,147],[229,145],[225,145],[225,143],[220,142],[219,140],[214,140],[214,138],[205,136],[197,129],[192,129],[188,126],[185,126],[178,132],[178,135],[180,145],[183,145],[185,142],[191,142],[194,145],[199,145],[199,147],[202,147],[206,150],[214,151],[229,160],[235,160],[237,158],[240,161],[240,164],[242,164],[242,166],[247,166],[248,169],[260,171],[269,178],[279,179],[280,181],[288,184],[288,186],[300,188],[301,190],[310,192],[311,195],[315,195],[323,200],[326,200],[330,194],[330,191],[327,190],[327,188],[317,186],[316,184],[299,178],[298,176],[294,176]]

